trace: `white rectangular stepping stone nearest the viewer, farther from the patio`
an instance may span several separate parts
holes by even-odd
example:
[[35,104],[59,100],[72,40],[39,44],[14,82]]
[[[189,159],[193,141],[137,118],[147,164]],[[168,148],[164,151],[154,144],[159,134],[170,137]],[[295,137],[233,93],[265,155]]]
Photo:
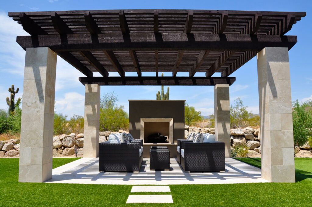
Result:
[[129,195],[126,203],[173,203],[171,195]]

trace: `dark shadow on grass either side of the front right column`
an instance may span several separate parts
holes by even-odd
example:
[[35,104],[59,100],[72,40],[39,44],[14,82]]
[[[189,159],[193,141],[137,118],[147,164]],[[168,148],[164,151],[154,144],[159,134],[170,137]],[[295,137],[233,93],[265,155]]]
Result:
[[[261,168],[261,158],[260,157],[235,157],[234,159],[245,162],[249,165]],[[312,179],[312,172],[300,170],[295,168],[296,182],[303,181],[305,179]]]

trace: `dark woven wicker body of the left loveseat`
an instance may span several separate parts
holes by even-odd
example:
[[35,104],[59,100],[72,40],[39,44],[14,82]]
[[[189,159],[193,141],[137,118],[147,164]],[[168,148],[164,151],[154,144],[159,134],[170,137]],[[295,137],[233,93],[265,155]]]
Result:
[[143,140],[130,143],[101,142],[99,144],[99,171],[138,172],[143,161]]

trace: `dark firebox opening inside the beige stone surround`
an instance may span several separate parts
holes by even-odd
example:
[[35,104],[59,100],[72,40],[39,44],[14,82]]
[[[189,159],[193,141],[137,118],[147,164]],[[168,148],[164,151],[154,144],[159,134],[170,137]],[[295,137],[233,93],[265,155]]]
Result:
[[169,143],[169,122],[144,122],[144,143]]

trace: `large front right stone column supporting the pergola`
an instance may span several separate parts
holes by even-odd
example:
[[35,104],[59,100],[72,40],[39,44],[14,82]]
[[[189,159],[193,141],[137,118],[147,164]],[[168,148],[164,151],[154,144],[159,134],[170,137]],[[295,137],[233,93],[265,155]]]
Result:
[[288,48],[264,48],[257,65],[261,176],[270,182],[295,182]]

